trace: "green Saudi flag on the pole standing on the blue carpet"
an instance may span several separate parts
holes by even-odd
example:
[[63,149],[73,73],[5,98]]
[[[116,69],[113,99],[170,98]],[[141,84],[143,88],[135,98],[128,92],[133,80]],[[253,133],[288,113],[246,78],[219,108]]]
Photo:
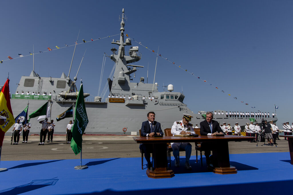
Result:
[[86,114],[86,106],[84,105],[84,90],[82,84],[76,100],[74,119],[74,125],[71,129],[72,139],[70,146],[74,154],[77,155],[82,149],[82,134],[88,125],[88,115]]

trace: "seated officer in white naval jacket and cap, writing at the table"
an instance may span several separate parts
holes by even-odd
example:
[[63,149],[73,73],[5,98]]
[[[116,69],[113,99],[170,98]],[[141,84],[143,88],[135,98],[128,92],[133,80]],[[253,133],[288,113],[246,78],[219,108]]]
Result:
[[[192,124],[189,123],[191,121],[191,118],[193,118],[193,116],[183,114],[183,118],[181,121],[175,121],[171,128],[171,133],[173,134],[173,136],[186,135],[186,134],[194,135],[195,132],[192,128]],[[188,142],[171,143],[171,147],[173,149],[173,155],[175,158],[175,167],[179,167],[178,155],[179,155],[179,149],[182,148],[182,149],[185,149],[185,168],[192,169],[189,164],[191,148],[192,148],[191,144]]]

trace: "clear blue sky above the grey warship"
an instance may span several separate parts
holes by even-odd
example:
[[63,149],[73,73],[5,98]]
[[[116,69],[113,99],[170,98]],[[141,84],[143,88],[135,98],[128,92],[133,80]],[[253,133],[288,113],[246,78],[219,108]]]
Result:
[[[120,33],[118,20],[122,8],[128,20],[125,33],[150,49],[175,61],[192,76],[172,63],[159,58],[156,81],[173,84],[174,91],[185,95],[184,103],[195,113],[198,110],[274,112],[279,106],[277,125],[293,122],[291,113],[293,1],[3,1],[0,12],[0,60],[18,54],[28,55],[47,47],[72,45],[82,39],[106,37]],[[111,54],[110,37],[80,44],[76,48],[70,77],[79,71],[84,91],[98,95],[103,54]],[[133,46],[137,46],[132,42]],[[136,73],[154,79],[156,55],[139,46],[145,66]],[[40,76],[59,78],[69,72],[74,47],[35,55],[35,72]],[[127,48],[128,50],[128,48]],[[21,76],[29,76],[32,56],[4,61],[1,85],[9,72],[10,90],[15,93]],[[102,89],[113,67],[106,60]],[[218,87],[217,90],[197,76]],[[102,90],[101,89],[101,90]],[[225,93],[222,93],[224,90]],[[108,93],[108,92],[107,92]],[[228,96],[231,94],[231,96]],[[90,98],[93,99],[93,96]],[[234,97],[238,99],[235,100]],[[245,105],[244,103],[249,105]],[[251,108],[255,106],[255,108]]]

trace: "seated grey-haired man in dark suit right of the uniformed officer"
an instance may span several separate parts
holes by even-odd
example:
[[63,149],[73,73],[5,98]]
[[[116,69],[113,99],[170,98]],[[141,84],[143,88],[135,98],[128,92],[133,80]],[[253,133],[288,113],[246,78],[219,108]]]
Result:
[[[224,132],[221,129],[219,123],[213,120],[213,113],[207,112],[206,120],[200,122],[200,135],[214,136],[216,134],[224,134]],[[209,155],[211,154],[211,150],[213,150],[213,148],[215,147],[215,144],[212,142],[202,142],[201,146],[202,146],[202,149],[205,151],[207,165],[209,165],[210,164]]]

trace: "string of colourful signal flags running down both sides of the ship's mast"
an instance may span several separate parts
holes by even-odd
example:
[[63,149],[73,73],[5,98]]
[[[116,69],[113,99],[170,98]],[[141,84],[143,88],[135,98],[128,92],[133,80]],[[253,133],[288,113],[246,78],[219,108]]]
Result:
[[[50,52],[50,51],[53,51],[53,50],[62,49],[62,48],[67,48],[67,47],[71,47],[71,46],[78,45],[78,44],[88,43],[88,42],[91,42],[91,41],[97,41],[97,40],[101,40],[101,39],[105,39],[105,38],[109,38],[109,37],[113,37],[113,36],[117,36],[117,35],[120,35],[120,33],[119,33],[119,34],[116,34],[116,35],[110,35],[110,36],[107,36],[107,37],[102,37],[102,38],[99,37],[98,39],[91,39],[90,41],[86,41],[86,40],[83,39],[83,40],[82,40],[83,42],[80,42],[80,43],[78,43],[78,42],[74,42],[74,44],[72,44],[72,45],[64,44],[63,47],[59,47],[59,46],[56,45],[55,48],[52,47],[53,49],[51,49],[50,47],[47,47],[47,50],[45,50],[45,51],[41,51],[41,50],[40,50],[38,53],[34,53],[34,54],[40,54],[40,53],[44,53],[44,52]],[[211,87],[214,87],[214,88],[217,89],[217,90],[221,90],[221,89],[219,89],[218,87],[214,86],[212,83],[209,83],[208,81],[206,81],[206,80],[200,78],[199,76],[195,76],[193,72],[190,72],[190,71],[188,71],[187,69],[184,69],[183,67],[181,67],[181,65],[176,64],[175,61],[172,62],[172,61],[168,60],[168,58],[163,57],[161,54],[156,53],[156,52],[155,52],[154,50],[152,50],[152,49],[149,49],[147,46],[143,45],[141,42],[138,42],[138,41],[134,40],[134,38],[129,37],[128,34],[126,34],[126,37],[132,39],[134,42],[138,43],[139,45],[142,45],[143,47],[145,47],[145,48],[148,49],[149,51],[151,51],[151,52],[153,52],[154,54],[157,54],[158,56],[160,56],[161,58],[167,60],[169,63],[172,63],[174,66],[177,66],[178,68],[184,70],[185,72],[191,74],[192,76],[197,77],[197,78],[200,79],[201,81],[203,81],[203,82],[209,84]],[[21,57],[27,57],[27,56],[30,56],[30,55],[33,55],[33,54],[30,53],[30,52],[29,52],[28,55],[18,54],[18,57],[14,57],[14,58],[11,57],[11,56],[8,56],[8,59],[6,59],[6,60],[0,60],[0,63],[2,64],[4,61],[7,61],[7,60],[17,59],[17,58],[21,58]],[[225,93],[224,90],[221,90],[221,92],[222,92],[222,93]],[[231,96],[231,94],[228,93],[228,96]],[[231,96],[231,97],[233,97],[233,96]],[[234,97],[234,99],[238,100],[237,97]],[[240,102],[241,102],[241,103],[244,103],[243,101],[240,101]],[[245,105],[248,105],[248,103],[245,103]],[[252,106],[251,108],[255,108],[255,106]]]

